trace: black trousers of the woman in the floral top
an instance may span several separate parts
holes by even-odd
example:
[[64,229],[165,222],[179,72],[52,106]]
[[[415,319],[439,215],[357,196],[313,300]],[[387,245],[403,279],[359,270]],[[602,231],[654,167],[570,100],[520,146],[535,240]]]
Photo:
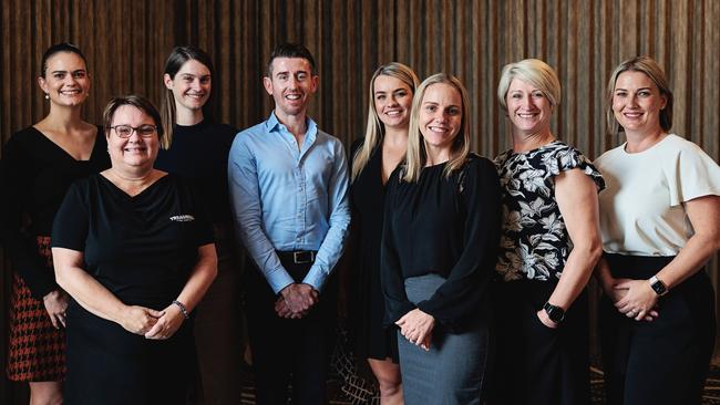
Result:
[[491,405],[588,405],[587,292],[575,300],[557,329],[537,318],[556,283],[493,284],[495,322]]

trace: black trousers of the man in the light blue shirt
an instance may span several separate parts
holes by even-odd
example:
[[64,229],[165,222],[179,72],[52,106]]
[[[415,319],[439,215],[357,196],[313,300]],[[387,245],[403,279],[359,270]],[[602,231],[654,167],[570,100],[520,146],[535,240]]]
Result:
[[[296,282],[311,263],[282,260]],[[246,264],[248,338],[253,351],[257,404],[326,404],[328,364],[333,347],[337,304],[335,280],[326,282],[320,301],[302,319],[282,319],[275,312],[276,294],[251,259]]]

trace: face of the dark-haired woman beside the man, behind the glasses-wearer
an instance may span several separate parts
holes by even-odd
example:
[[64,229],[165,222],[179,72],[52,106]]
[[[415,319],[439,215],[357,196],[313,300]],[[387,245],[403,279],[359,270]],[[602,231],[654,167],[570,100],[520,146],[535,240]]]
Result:
[[175,77],[166,73],[163,79],[165,86],[173,92],[177,110],[200,110],[210,96],[210,70],[194,59],[185,62]]

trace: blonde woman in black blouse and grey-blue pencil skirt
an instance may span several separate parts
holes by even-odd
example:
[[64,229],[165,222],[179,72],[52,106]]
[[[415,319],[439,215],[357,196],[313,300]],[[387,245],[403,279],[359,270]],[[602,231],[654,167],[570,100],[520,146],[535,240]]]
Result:
[[388,180],[384,322],[399,328],[408,404],[484,399],[500,184],[493,164],[470,153],[469,111],[457,79],[426,79],[413,98],[407,163]]

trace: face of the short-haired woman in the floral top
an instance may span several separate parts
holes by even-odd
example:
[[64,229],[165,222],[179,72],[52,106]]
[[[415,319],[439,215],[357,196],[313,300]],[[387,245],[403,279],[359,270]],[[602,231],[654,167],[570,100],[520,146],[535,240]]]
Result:
[[523,135],[549,132],[553,105],[539,89],[521,79],[513,79],[505,98],[513,131]]

